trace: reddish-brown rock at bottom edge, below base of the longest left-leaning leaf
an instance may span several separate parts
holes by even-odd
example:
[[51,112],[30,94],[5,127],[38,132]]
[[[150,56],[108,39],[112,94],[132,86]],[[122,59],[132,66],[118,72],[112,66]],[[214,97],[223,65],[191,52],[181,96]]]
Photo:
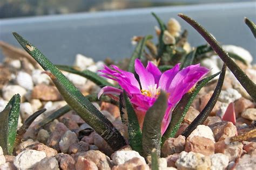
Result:
[[69,155],[64,153],[58,153],[56,159],[59,163],[60,169],[69,170],[75,169],[76,161]]

